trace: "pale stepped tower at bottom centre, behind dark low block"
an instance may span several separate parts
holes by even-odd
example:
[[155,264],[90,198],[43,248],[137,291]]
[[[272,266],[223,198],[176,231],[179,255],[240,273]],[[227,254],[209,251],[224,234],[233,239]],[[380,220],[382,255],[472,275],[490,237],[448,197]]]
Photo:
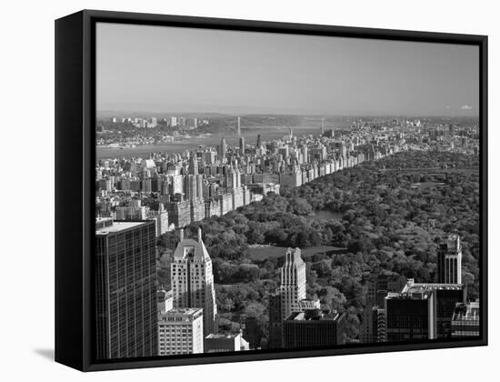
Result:
[[282,319],[300,311],[300,301],[305,299],[305,262],[299,248],[288,248],[285,264],[281,268]]

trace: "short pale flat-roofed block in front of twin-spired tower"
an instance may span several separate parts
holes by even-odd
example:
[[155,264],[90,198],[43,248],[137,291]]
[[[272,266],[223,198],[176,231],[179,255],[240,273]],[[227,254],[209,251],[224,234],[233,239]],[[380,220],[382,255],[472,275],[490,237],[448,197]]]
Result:
[[196,354],[204,351],[203,309],[170,309],[158,320],[158,355]]

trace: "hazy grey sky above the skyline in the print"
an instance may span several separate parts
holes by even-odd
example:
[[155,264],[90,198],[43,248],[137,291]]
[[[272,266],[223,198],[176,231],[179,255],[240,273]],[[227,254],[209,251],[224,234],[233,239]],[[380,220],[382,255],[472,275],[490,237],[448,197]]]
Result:
[[470,45],[98,24],[97,109],[475,116]]

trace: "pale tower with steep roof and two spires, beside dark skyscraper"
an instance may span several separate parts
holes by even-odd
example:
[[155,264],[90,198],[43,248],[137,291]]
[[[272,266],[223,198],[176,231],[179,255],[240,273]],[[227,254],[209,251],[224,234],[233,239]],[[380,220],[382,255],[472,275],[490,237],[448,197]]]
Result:
[[216,332],[217,307],[212,260],[203,243],[201,228],[198,228],[197,241],[184,238],[183,229],[180,232],[181,240],[175,248],[171,266],[174,308],[202,307],[206,337]]

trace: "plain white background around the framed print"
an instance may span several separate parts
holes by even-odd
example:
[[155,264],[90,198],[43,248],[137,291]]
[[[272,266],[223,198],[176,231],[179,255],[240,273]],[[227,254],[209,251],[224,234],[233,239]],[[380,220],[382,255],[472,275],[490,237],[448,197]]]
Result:
[[[5,1],[0,95],[0,376],[12,380],[495,379],[498,370],[498,71],[495,1]],[[54,20],[87,9],[489,35],[490,346],[83,374],[54,349]],[[71,160],[71,158],[68,158]],[[491,375],[491,377],[487,377]]]

